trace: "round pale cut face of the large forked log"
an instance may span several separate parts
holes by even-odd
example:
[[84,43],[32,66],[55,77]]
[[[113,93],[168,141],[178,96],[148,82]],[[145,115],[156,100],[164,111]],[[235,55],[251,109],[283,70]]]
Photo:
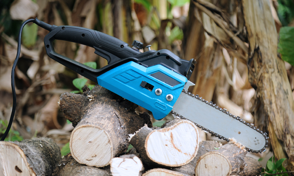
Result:
[[113,158],[112,140],[109,134],[98,126],[76,127],[72,131],[69,147],[74,159],[88,166],[104,167]]

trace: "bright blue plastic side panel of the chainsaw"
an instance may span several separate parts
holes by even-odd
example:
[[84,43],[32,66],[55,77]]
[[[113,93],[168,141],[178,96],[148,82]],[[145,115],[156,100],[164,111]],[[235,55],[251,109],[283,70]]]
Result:
[[[153,77],[151,74],[153,76],[161,75],[161,77],[157,76],[155,78],[156,76]],[[171,86],[171,83],[160,80],[166,78],[166,76],[169,77],[169,80],[176,82],[175,84],[177,85]],[[173,105],[180,96],[187,78],[162,65],[146,68],[131,61],[98,76],[97,81],[102,87],[148,109],[152,112],[154,118],[159,120],[173,109]],[[150,89],[142,87],[140,85],[142,81],[151,85]],[[152,86],[154,87],[152,88]],[[162,90],[161,95],[155,94],[157,88]],[[167,94],[173,95],[172,101],[166,100]]]

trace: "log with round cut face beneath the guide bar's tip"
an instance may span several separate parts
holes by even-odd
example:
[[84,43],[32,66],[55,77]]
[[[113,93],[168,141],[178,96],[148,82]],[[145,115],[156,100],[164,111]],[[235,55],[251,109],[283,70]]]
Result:
[[231,175],[244,169],[247,151],[234,143],[225,144],[202,155],[196,163],[195,175]]

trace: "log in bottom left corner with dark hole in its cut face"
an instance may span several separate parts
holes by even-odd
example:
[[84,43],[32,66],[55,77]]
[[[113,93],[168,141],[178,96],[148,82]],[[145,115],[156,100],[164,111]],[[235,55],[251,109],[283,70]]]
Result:
[[49,176],[60,159],[60,149],[50,138],[0,141],[1,176]]

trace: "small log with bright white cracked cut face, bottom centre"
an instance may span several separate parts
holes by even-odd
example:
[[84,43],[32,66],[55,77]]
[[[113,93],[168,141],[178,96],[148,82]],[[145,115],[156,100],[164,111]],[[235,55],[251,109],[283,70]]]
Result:
[[121,155],[112,158],[110,171],[113,176],[141,176],[144,167],[142,161],[136,155]]

